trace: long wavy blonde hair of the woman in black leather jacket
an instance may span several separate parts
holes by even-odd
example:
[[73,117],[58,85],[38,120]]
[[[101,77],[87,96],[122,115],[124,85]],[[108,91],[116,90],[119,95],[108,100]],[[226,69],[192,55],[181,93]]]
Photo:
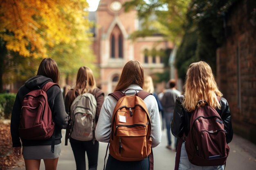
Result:
[[204,106],[204,102],[198,105],[199,100],[205,100],[209,106],[220,109],[217,96],[222,96],[213,76],[211,66],[206,62],[190,64],[184,84],[184,100],[182,105],[188,112],[196,107]]

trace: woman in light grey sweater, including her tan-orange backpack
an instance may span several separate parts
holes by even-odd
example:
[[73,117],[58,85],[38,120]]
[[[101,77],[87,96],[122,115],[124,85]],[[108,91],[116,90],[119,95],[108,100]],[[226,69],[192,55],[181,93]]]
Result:
[[162,134],[157,101],[142,91],[143,84],[141,63],[130,60],[115,92],[103,102],[95,135],[98,141],[110,142],[106,170],[153,168],[151,147],[160,143]]

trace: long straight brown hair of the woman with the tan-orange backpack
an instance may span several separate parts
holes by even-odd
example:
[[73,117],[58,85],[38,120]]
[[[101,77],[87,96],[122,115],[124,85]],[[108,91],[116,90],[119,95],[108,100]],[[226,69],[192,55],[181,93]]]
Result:
[[144,83],[144,70],[141,63],[137,60],[128,61],[123,68],[119,82],[115,91],[123,91],[131,84],[137,84],[141,88]]

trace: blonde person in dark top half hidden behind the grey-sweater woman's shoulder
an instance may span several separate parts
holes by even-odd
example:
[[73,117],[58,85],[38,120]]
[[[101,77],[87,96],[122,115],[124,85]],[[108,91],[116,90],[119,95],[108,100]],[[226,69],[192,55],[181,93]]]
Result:
[[155,89],[154,89],[153,80],[152,80],[152,77],[150,77],[149,75],[146,75],[145,78],[144,78],[143,90],[147,91],[149,93],[152,93],[152,95],[157,100],[157,106],[158,106],[159,113],[162,112],[162,110],[163,110],[162,105],[160,103],[160,100],[157,97],[157,94],[154,92]]

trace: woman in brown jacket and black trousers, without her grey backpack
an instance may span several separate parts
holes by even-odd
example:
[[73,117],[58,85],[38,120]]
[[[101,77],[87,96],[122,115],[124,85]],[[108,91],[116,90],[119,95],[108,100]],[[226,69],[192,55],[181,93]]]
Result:
[[[95,128],[99,119],[101,106],[103,104],[104,93],[101,91],[101,89],[97,88],[92,70],[86,66],[79,68],[74,89],[67,92],[65,97],[65,108],[67,113],[70,113],[71,105],[74,99],[83,93],[91,93],[96,99],[97,110],[95,117]],[[89,170],[97,170],[99,153],[99,142],[97,140],[94,141],[93,139],[90,141],[81,141],[73,139],[71,136],[70,144],[76,161],[76,170],[85,170],[85,152],[88,157]]]

